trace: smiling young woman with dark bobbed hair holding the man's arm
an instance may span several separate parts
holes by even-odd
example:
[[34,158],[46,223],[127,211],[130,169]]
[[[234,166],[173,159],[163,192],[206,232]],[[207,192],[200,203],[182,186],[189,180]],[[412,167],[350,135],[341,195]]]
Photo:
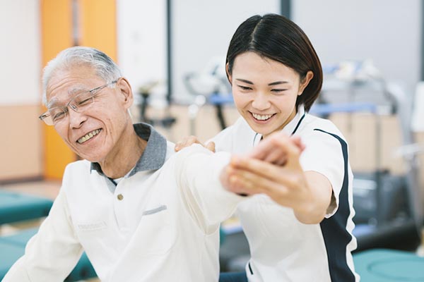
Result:
[[261,162],[273,159],[264,147],[233,159],[229,171],[229,190],[252,195],[237,208],[248,280],[358,281],[348,145],[331,121],[308,114],[322,87],[310,40],[283,16],[252,16],[231,39],[226,71],[242,118],[213,138],[216,151],[247,152],[272,133],[288,136],[279,140],[285,158]]

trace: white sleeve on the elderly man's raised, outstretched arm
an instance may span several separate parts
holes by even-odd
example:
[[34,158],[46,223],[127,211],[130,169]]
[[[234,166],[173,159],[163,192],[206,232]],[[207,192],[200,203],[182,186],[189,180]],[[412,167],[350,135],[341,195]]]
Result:
[[189,213],[205,233],[216,231],[220,222],[228,219],[245,199],[228,192],[220,183],[220,173],[230,161],[230,154],[212,153],[192,145],[174,157],[177,183]]

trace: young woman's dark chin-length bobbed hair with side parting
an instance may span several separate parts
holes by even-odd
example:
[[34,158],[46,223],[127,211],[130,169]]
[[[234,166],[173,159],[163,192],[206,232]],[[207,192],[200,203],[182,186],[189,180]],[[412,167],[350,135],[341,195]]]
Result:
[[312,71],[314,77],[296,100],[296,106],[305,104],[305,111],[310,110],[321,91],[322,66],[310,40],[298,25],[276,14],[252,16],[245,20],[235,31],[228,47],[226,63],[229,74],[235,58],[247,51],[292,68],[299,73],[301,81],[308,71]]

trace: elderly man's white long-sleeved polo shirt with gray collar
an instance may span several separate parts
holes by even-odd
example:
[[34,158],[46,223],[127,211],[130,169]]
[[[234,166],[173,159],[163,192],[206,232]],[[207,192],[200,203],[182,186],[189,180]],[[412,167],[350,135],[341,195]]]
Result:
[[66,167],[49,216],[4,282],[64,281],[83,250],[102,281],[218,281],[219,223],[242,200],[218,180],[230,155],[199,145],[173,154],[150,125],[134,128],[147,147],[116,187],[98,164]]

